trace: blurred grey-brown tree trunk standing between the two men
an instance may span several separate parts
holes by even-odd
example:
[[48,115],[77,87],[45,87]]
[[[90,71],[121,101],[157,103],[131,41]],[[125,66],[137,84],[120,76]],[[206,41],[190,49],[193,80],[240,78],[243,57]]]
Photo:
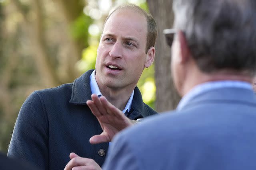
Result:
[[162,112],[175,109],[180,97],[178,96],[171,78],[170,47],[167,46],[163,30],[171,28],[173,12],[171,0],[147,0],[150,13],[158,26],[155,57],[156,80],[156,111]]

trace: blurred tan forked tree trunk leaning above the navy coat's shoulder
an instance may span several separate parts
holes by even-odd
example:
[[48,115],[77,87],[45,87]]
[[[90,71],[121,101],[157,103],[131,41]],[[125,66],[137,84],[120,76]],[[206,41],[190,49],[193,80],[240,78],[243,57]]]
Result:
[[25,21],[26,29],[28,30],[28,36],[32,51],[34,51],[35,63],[38,68],[38,72],[42,78],[42,82],[45,87],[57,86],[60,84],[58,76],[54,69],[54,65],[50,62],[50,56],[47,54],[47,49],[44,41],[44,29],[43,29],[43,9],[41,0],[33,0],[32,6],[35,9],[35,18],[30,21],[28,12],[24,10],[24,7],[19,0],[11,0],[12,4],[22,14]]

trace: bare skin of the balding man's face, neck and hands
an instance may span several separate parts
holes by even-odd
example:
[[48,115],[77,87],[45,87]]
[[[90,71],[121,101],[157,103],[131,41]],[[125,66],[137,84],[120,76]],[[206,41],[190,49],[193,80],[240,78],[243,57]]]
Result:
[[[105,97],[92,94],[86,103],[98,119],[103,132],[91,137],[90,143],[109,142],[122,129],[134,122],[123,110],[144,68],[149,67],[155,48],[146,49],[146,18],[132,10],[117,10],[105,23],[96,59],[96,82]],[[112,70],[109,66],[118,67]],[[109,102],[108,102],[109,101]],[[88,158],[70,153],[65,170],[98,170],[98,164]]]

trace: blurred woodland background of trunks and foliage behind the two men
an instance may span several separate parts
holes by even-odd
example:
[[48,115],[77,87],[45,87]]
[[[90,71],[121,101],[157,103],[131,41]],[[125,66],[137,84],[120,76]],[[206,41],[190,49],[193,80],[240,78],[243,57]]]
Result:
[[73,82],[95,68],[96,50],[110,9],[122,3],[149,11],[158,25],[154,65],[138,87],[157,111],[180,100],[170,77],[171,0],[0,0],[0,151],[6,153],[19,109],[34,91]]

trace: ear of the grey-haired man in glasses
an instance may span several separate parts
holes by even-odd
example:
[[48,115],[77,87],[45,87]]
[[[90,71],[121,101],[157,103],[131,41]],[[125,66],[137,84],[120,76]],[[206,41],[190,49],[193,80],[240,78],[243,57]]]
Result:
[[181,54],[181,62],[184,63],[190,59],[190,50],[188,48],[188,43],[186,40],[186,36],[184,32],[178,31],[178,40],[180,42],[180,54]]

